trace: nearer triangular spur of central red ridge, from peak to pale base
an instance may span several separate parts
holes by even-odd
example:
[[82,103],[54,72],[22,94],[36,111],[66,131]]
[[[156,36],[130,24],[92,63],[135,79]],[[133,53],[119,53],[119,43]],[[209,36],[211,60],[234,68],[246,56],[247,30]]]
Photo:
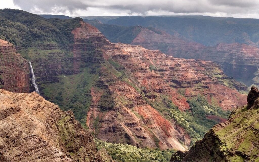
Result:
[[[82,51],[84,51],[82,49],[89,47],[85,45],[85,42],[91,40],[95,47],[101,49],[102,53],[101,55],[95,53],[86,56],[89,58],[88,61],[104,63],[105,60],[111,59],[108,52],[120,53],[120,56],[124,57],[125,52],[121,47],[111,44],[102,33],[96,32],[92,28],[91,25],[82,22],[81,27],[73,31],[75,34],[74,56],[82,55]],[[104,91],[107,90],[98,87],[91,89],[92,104],[87,115],[87,125],[92,131],[95,131],[97,138],[140,147],[155,148],[159,145],[162,149],[186,150],[186,147],[178,141],[178,139],[184,139],[183,132],[176,130],[174,124],[148,105],[142,95],[131,85],[131,81],[121,81],[110,70],[102,65],[99,75],[100,84],[109,90],[108,93],[113,98],[114,107],[104,107],[99,103]],[[100,111],[98,108],[106,109],[106,111]],[[142,116],[142,118],[138,116]],[[98,122],[98,129],[94,129],[93,126],[96,122]],[[154,138],[160,142],[156,144]],[[187,137],[186,145],[189,143],[188,140]]]

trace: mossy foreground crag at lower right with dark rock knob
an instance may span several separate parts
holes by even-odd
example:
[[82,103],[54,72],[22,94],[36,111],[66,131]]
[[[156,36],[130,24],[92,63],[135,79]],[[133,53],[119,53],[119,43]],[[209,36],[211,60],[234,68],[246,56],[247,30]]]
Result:
[[248,105],[232,111],[228,121],[215,125],[188,152],[176,152],[176,161],[258,161],[259,91],[252,87]]

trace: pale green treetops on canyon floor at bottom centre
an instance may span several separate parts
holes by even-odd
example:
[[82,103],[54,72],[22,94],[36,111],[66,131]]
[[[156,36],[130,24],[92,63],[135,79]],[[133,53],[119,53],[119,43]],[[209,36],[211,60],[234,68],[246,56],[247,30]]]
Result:
[[168,162],[175,150],[137,148],[127,144],[112,144],[95,138],[98,150],[104,148],[118,162]]

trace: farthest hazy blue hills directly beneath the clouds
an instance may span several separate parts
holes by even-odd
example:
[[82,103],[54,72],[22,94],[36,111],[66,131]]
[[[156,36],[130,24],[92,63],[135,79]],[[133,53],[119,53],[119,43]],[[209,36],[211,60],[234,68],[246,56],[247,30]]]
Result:
[[222,18],[209,16],[123,16],[108,24],[154,27],[169,34],[175,31],[187,39],[204,45],[246,43],[258,46],[259,19]]

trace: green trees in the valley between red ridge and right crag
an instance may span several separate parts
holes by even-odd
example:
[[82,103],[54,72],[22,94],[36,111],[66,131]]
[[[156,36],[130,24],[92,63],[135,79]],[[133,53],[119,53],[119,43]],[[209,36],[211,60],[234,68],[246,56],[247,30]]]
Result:
[[230,111],[223,111],[222,108],[210,105],[205,97],[198,95],[188,100],[191,111],[180,111],[170,106],[171,117],[179,125],[187,130],[192,137],[192,144],[200,140],[205,133],[215,124],[219,123],[216,119],[209,119],[207,116],[213,115],[216,118],[227,119]]

